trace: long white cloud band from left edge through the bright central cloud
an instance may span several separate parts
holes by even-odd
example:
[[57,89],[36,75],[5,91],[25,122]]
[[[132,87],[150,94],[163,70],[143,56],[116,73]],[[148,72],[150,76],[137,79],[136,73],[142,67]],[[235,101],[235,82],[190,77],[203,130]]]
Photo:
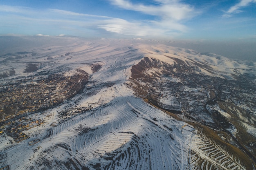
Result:
[[[166,36],[173,37],[188,29],[183,20],[187,20],[198,13],[193,7],[180,3],[179,0],[155,0],[155,5],[132,4],[127,0],[111,0],[112,4],[127,10],[139,11],[148,15],[157,16],[158,20],[124,20],[102,15],[76,13],[60,9],[33,9],[27,7],[12,7],[0,5],[2,25],[29,32],[34,29],[36,34],[49,35],[78,33],[104,34],[106,31],[136,36]],[[8,30],[7,30],[8,31]],[[52,31],[50,33],[49,31]],[[9,33],[9,32],[7,32]],[[18,33],[15,32],[15,33]],[[27,33],[31,34],[31,33]],[[82,35],[81,35],[82,36]]]

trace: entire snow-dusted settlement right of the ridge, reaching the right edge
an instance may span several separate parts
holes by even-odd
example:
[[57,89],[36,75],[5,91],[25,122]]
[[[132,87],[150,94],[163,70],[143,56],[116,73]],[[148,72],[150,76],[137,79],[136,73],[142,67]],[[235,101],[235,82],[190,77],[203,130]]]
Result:
[[[173,113],[186,113],[193,119],[212,122],[205,105],[212,101],[231,102],[254,113],[256,109],[256,79],[241,75],[225,79],[196,73],[176,73],[157,77],[130,79],[125,85],[138,97]],[[146,94],[146,95],[145,95]],[[185,111],[185,112],[184,112]]]

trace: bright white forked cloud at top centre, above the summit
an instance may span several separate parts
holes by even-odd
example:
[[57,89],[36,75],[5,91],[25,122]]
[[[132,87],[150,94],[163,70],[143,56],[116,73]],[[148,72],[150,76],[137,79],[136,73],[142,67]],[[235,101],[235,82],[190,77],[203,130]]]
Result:
[[99,26],[101,29],[125,35],[138,36],[173,36],[186,32],[188,28],[182,22],[198,15],[192,6],[179,0],[155,0],[155,4],[133,4],[128,0],[110,0],[121,9],[138,11],[157,17],[157,20],[126,21],[120,19],[108,20],[108,24]]

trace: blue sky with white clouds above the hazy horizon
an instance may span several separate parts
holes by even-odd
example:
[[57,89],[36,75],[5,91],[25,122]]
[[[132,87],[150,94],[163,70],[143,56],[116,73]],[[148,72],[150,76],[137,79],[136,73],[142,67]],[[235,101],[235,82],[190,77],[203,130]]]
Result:
[[0,34],[256,39],[256,0],[0,0]]

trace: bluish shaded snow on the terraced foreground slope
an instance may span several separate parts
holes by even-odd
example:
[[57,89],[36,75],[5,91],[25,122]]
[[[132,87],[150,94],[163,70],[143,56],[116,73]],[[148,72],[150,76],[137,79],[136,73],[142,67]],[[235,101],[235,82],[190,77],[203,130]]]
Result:
[[119,97],[108,107],[98,107],[94,112],[76,115],[50,128],[46,135],[39,137],[42,139],[39,143],[29,146],[30,152],[19,148],[21,152],[14,154],[16,147],[13,147],[7,150],[7,155],[12,155],[9,160],[16,159],[15,155],[31,155],[26,164],[23,161],[12,164],[14,170],[18,167],[21,170],[29,167],[94,169],[96,165],[120,170],[182,169],[187,167],[188,159],[184,137],[189,141],[189,134],[192,135],[189,131],[182,134],[182,125],[141,99]]

